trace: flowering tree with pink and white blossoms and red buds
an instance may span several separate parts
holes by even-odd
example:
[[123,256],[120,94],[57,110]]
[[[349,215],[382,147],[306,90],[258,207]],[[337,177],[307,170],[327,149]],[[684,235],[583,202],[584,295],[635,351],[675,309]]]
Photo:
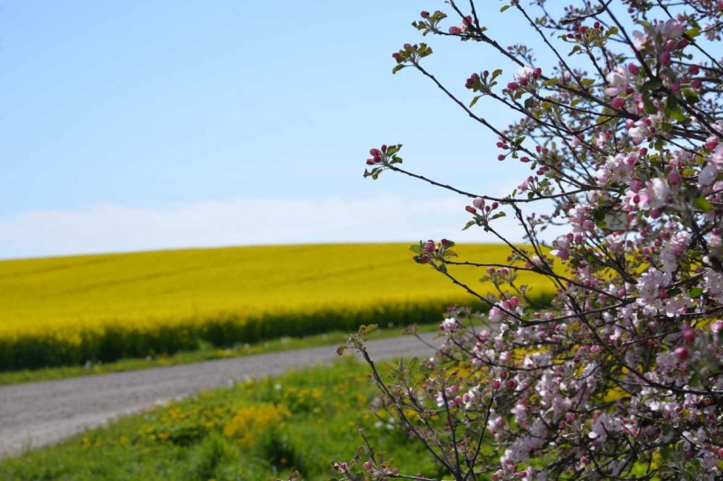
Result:
[[[451,308],[437,355],[399,364],[390,379],[366,351],[369,328],[340,348],[361,351],[380,406],[443,475],[399,473],[371,446],[334,468],[350,480],[721,478],[723,60],[710,52],[723,1],[578,0],[559,14],[545,0],[503,5],[548,50],[549,66],[490,38],[474,1],[446,3],[413,26],[477,42],[517,71],[474,72],[469,98],[455,97],[424,67],[426,43],[394,53],[393,71],[431,80],[498,136],[499,161],[531,174],[493,198],[402,169],[400,144],[371,149],[365,176],[393,171],[465,196],[465,228],[492,233],[511,254],[480,264],[458,260],[446,239],[414,245],[419,264],[489,311]],[[493,125],[475,111],[483,97],[520,120]],[[496,227],[505,215],[524,246]],[[567,232],[547,245],[550,226]],[[462,265],[483,269],[491,292],[458,281]],[[521,272],[549,280],[554,300],[531,299]]]

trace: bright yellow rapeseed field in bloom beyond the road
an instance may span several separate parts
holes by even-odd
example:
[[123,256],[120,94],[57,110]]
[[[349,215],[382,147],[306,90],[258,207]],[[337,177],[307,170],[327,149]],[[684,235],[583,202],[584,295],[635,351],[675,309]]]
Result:
[[[503,262],[502,245],[458,245]],[[0,369],[114,360],[381,320],[439,320],[472,301],[408,245],[284,245],[0,262]],[[483,270],[451,270],[479,283]],[[540,288],[539,291],[542,291]]]

